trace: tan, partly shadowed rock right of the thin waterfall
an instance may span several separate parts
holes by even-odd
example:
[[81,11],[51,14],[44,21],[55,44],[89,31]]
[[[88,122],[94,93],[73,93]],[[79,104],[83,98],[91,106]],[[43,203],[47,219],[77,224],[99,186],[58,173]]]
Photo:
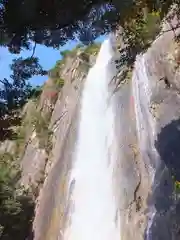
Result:
[[[179,31],[179,30],[178,30]],[[178,34],[177,31],[177,34]],[[169,32],[156,40],[147,52],[146,69],[151,84],[150,109],[154,116],[154,207],[150,239],[179,239],[179,64],[178,45]]]

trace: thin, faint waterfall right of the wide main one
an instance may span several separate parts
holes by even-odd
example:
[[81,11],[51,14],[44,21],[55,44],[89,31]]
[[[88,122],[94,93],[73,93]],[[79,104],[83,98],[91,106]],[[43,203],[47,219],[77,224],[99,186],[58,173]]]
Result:
[[[148,64],[146,64],[146,54],[137,56],[133,77],[132,88],[134,95],[136,129],[140,147],[142,161],[145,162],[149,176],[151,176],[151,185],[154,183],[157,152],[154,147],[155,121],[150,112],[151,83],[148,73]],[[154,205],[149,206],[149,221],[146,229],[146,239],[150,238],[150,228],[153,223],[156,210]]]

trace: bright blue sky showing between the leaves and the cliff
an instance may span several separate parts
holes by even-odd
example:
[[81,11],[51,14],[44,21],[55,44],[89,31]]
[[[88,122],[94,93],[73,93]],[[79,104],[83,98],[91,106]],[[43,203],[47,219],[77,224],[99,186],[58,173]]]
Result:
[[[102,42],[106,37],[100,36],[96,39],[97,42]],[[39,62],[45,70],[51,69],[57,60],[61,59],[60,52],[66,49],[71,50],[78,44],[77,41],[70,41],[60,49],[53,49],[50,47],[37,45],[34,56],[39,58]],[[29,57],[32,55],[31,51],[24,50],[21,54],[11,54],[7,48],[0,47],[0,79],[9,78],[11,71],[9,64],[11,64],[14,58],[22,56],[23,58]],[[34,76],[31,78],[30,83],[33,86],[42,85],[46,80],[47,76]]]

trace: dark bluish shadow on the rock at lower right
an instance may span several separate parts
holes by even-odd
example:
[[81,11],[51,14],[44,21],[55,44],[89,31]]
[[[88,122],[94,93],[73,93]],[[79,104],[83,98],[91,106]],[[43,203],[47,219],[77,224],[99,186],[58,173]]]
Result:
[[156,214],[146,239],[180,239],[180,197],[175,181],[180,181],[180,120],[161,129],[155,147],[160,156],[152,191]]

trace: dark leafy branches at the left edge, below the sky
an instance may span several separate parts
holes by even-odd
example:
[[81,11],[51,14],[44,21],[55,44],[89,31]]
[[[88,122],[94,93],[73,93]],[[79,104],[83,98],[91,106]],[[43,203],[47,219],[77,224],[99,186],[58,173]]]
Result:
[[42,93],[42,87],[22,84],[19,80],[20,82],[11,84],[4,79],[4,86],[0,89],[0,141],[16,138],[13,128],[21,124],[19,116],[22,107],[28,99],[37,101]]

